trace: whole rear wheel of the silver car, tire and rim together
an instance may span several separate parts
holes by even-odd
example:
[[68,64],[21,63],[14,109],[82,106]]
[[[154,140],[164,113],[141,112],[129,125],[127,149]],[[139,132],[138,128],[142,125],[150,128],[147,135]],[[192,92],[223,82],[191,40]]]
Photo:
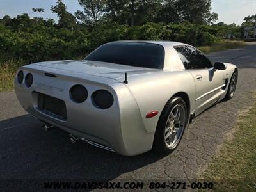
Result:
[[178,147],[188,124],[186,102],[181,97],[173,97],[164,107],[154,136],[153,150],[160,154],[170,154]]

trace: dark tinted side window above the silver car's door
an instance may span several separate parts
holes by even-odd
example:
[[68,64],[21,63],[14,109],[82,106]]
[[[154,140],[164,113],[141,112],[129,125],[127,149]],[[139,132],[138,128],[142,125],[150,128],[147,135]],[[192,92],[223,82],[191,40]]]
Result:
[[202,52],[190,46],[174,47],[186,69],[211,68],[212,63]]

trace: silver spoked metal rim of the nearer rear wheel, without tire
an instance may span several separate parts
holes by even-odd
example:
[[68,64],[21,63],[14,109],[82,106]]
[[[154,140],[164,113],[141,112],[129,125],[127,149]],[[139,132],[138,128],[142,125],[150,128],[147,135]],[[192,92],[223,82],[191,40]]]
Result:
[[167,118],[164,141],[167,148],[175,148],[182,138],[186,125],[186,109],[182,104],[175,105]]

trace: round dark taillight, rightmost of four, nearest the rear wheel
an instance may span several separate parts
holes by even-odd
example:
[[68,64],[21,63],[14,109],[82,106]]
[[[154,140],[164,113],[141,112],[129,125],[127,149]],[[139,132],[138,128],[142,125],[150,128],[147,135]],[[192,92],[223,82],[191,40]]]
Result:
[[92,94],[93,104],[100,109],[108,109],[113,105],[113,95],[107,90],[97,90]]

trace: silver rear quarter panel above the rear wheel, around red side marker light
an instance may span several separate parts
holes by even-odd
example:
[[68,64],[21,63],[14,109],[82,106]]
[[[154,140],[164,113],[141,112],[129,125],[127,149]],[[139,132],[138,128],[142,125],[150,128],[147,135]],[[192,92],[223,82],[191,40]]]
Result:
[[[195,110],[195,83],[189,72],[162,71],[145,74],[143,77],[134,76],[128,81],[127,87],[136,100],[147,132],[156,130],[164,106],[176,93],[186,93],[189,97],[190,113]],[[153,118],[145,118],[151,111],[159,113]]]

